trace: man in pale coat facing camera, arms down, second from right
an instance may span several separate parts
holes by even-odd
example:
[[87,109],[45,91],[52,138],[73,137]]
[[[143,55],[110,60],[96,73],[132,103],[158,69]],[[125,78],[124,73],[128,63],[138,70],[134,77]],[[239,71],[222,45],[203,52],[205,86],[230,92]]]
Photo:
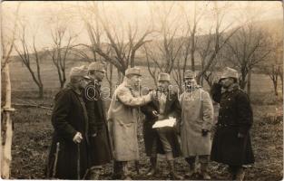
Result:
[[195,173],[199,156],[203,179],[211,179],[208,164],[211,154],[211,126],[214,110],[210,94],[195,81],[195,72],[186,71],[185,91],[181,94],[181,152],[190,165],[189,176]]

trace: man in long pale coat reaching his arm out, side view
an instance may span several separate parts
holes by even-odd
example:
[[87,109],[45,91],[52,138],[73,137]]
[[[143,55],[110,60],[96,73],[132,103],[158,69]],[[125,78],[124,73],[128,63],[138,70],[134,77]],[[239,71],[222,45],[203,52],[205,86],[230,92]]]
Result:
[[113,179],[130,179],[127,162],[139,159],[137,109],[152,100],[152,92],[141,97],[134,94],[142,76],[139,68],[125,71],[124,81],[114,90],[108,110],[113,145]]

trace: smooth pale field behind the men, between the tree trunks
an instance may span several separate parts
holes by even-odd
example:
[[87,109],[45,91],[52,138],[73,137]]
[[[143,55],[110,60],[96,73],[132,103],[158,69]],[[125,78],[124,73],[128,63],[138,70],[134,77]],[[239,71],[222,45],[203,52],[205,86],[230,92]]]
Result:
[[[70,68],[77,65],[83,65],[86,62],[71,62],[67,64],[66,75]],[[146,67],[142,68],[142,84],[152,87],[154,85],[152,77]],[[21,90],[37,90],[36,84],[34,83],[32,76],[29,71],[22,65],[21,62],[13,62],[11,64],[11,79],[12,89],[15,91]],[[113,71],[113,79],[116,82],[117,73]],[[52,62],[44,62],[42,66],[42,81],[44,83],[44,90],[58,90],[60,87],[58,81],[57,71]],[[173,80],[172,80],[173,82]],[[103,81],[103,86],[108,86],[106,81]],[[207,87],[205,87],[207,89]],[[280,88],[279,88],[280,89]],[[251,76],[251,92],[270,92],[273,90],[272,82],[269,80],[268,75],[264,74],[252,74]]]

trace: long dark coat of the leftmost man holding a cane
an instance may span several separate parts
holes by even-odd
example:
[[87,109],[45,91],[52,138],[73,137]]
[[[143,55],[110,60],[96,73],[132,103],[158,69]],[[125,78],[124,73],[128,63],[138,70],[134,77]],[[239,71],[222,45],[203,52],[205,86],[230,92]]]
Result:
[[[80,178],[83,178],[89,167],[86,137],[88,118],[80,92],[76,92],[70,85],[59,91],[55,96],[52,124],[54,136],[45,170],[46,176],[49,178],[77,179],[79,164]],[[76,132],[80,132],[83,136],[80,144],[73,142]],[[57,143],[59,143],[58,158],[57,162],[54,163]]]

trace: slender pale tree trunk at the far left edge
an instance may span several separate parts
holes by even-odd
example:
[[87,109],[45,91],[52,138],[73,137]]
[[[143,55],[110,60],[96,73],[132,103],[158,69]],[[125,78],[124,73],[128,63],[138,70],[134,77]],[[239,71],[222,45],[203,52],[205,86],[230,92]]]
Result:
[[[11,148],[13,138],[13,123],[10,118],[10,112],[14,109],[11,108],[11,81],[9,72],[9,63],[5,64],[4,68],[5,79],[5,106],[3,108],[2,117],[2,147],[1,147],[1,176],[4,179],[10,177],[10,166],[12,160]],[[4,127],[4,128],[3,128]]]

